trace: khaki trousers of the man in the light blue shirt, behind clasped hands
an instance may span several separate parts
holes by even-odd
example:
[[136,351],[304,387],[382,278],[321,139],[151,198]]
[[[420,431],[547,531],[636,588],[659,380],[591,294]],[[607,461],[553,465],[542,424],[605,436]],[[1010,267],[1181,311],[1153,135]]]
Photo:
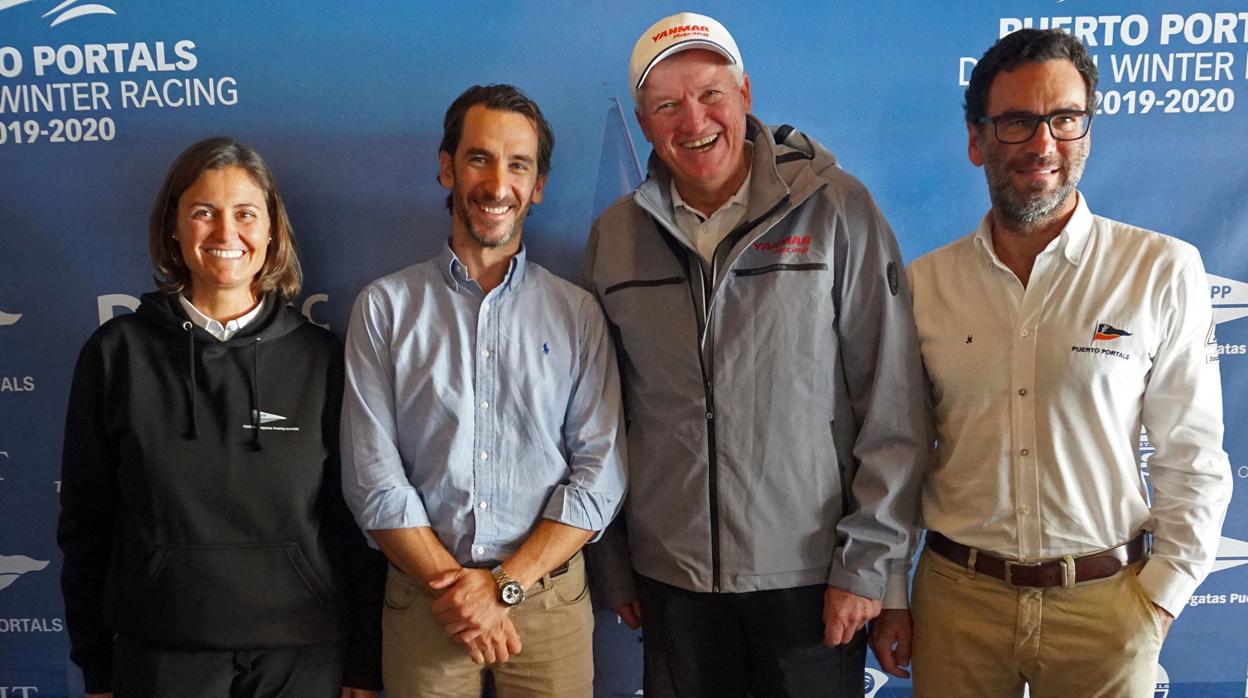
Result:
[[[594,616],[578,553],[568,572],[543,577],[512,611],[520,653],[489,664],[498,698],[589,698],[594,693]],[[387,698],[480,698],[484,671],[438,622],[434,596],[391,566],[382,613]]]

